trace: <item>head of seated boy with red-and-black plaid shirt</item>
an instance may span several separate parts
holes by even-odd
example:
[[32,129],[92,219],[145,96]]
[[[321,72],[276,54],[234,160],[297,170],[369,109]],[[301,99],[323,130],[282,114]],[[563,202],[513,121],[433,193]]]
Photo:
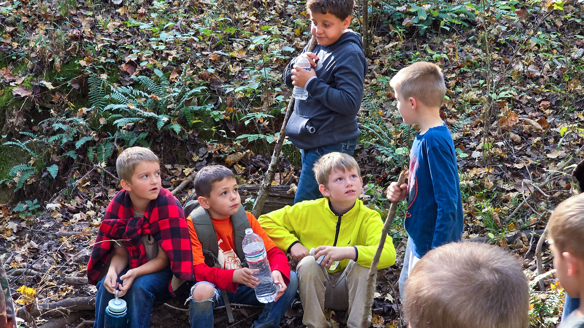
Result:
[[158,156],[148,148],[127,148],[117,157],[116,171],[121,187],[130,194],[134,211],[143,213],[162,189]]

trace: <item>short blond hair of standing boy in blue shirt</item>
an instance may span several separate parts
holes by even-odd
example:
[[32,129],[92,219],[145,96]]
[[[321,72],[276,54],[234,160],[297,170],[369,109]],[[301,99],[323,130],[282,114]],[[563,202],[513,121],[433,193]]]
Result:
[[414,97],[430,107],[440,107],[446,95],[442,69],[427,61],[415,62],[399,70],[390,86],[402,99]]

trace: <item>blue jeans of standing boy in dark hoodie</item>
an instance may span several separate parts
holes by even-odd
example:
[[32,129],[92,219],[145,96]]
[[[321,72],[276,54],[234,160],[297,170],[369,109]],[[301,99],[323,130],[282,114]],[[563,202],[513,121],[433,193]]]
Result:
[[311,149],[300,149],[302,155],[302,171],[300,172],[300,179],[298,180],[298,189],[296,196],[294,196],[294,204],[300,203],[303,200],[315,200],[321,198],[321,191],[318,190],[317,179],[314,176],[314,163],[317,162],[322,155],[329,152],[343,152],[353,155],[355,147],[357,146],[357,139],[341,142],[340,144],[332,144]]

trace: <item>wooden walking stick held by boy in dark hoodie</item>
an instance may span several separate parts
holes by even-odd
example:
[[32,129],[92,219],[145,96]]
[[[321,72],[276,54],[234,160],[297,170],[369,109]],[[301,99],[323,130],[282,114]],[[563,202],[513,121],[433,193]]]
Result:
[[[310,43],[308,44],[308,51],[314,50],[316,46],[317,40],[313,36],[310,39]],[[294,96],[290,96],[290,103],[288,103],[288,109],[286,110],[286,116],[284,116],[284,121],[280,129],[280,135],[278,136],[278,141],[276,141],[276,146],[274,147],[274,152],[272,153],[270,166],[267,167],[267,172],[263,176],[262,186],[258,191],[258,197],[256,197],[256,201],[253,203],[252,214],[256,218],[262,214],[263,204],[266,203],[267,195],[270,193],[270,189],[272,189],[272,181],[274,180],[274,175],[276,174],[280,151],[282,150],[282,145],[284,144],[284,138],[286,138],[286,124],[288,124],[288,119],[290,119],[290,115],[294,110],[294,103]]]

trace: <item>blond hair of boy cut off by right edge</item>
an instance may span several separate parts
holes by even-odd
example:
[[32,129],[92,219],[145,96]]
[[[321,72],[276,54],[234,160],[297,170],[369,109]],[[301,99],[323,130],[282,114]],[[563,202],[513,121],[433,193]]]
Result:
[[551,214],[548,230],[559,252],[570,252],[584,260],[584,194],[559,203]]

